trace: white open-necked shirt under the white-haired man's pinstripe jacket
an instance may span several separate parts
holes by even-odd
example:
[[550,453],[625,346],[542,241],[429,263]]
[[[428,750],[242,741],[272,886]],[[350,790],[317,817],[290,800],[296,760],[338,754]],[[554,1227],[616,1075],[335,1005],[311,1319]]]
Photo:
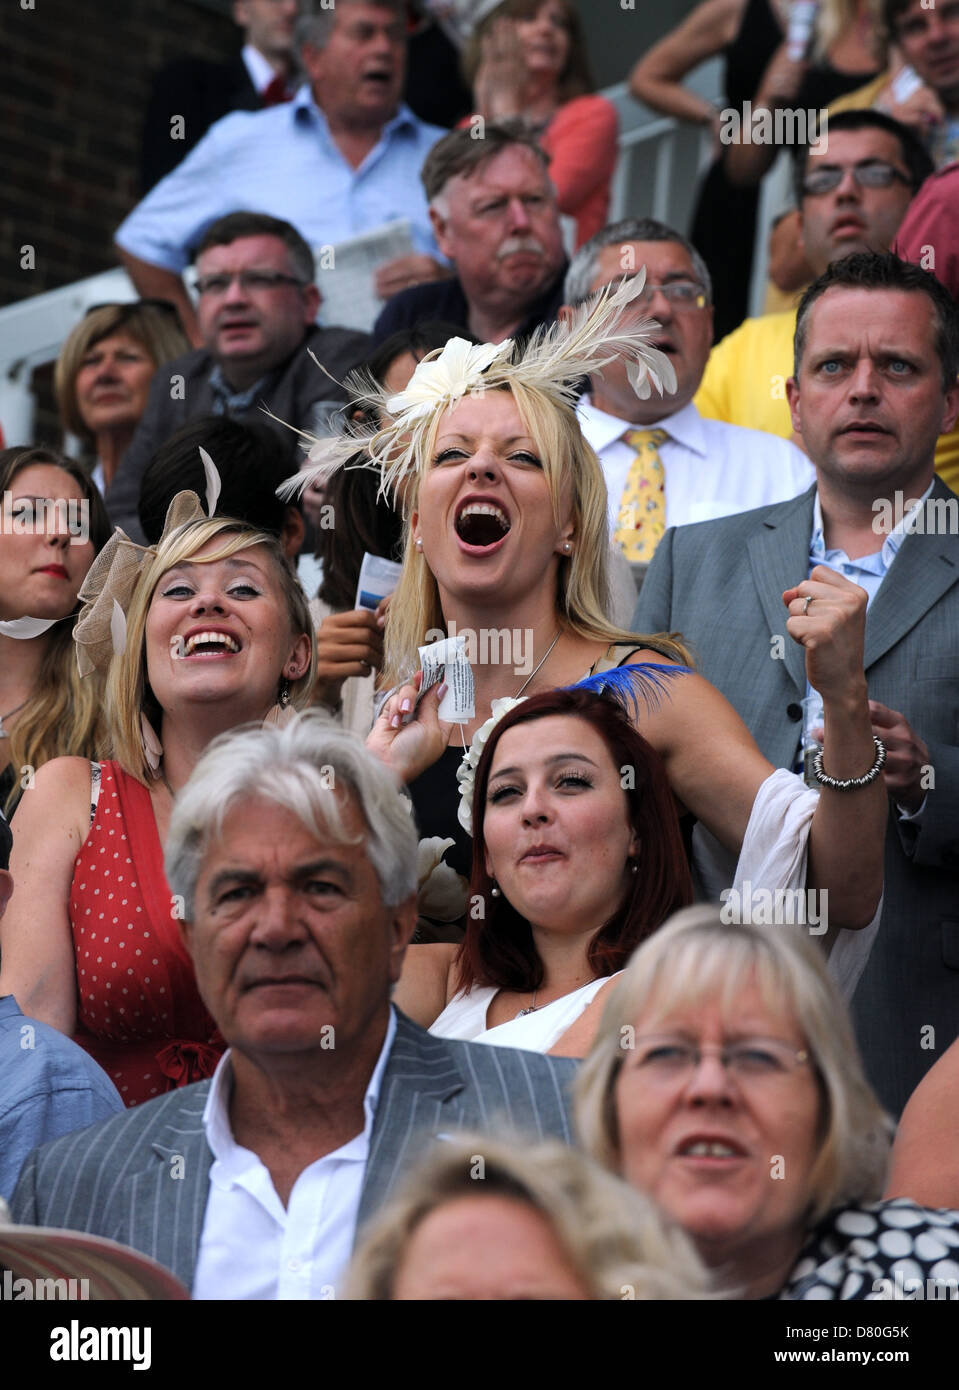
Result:
[[379,1087],[396,1036],[386,1038],[366,1097],[363,1131],[304,1168],[284,1208],[268,1169],[233,1138],[231,1054],[213,1074],[203,1129],[213,1150],[210,1200],[196,1259],[193,1298],[336,1298],[353,1252]]

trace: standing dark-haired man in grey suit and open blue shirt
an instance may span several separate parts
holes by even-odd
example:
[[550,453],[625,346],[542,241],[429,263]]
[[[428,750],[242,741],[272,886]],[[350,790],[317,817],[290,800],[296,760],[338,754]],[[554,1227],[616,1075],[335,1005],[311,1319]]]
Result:
[[827,581],[866,589],[890,820],[852,1012],[892,1113],[959,1031],[959,498],[933,471],[958,373],[959,310],[933,275],[890,254],[834,263],[799,306],[787,385],[816,485],[669,531],[634,614],[638,631],[680,630],[766,756],[794,767],[808,688],[782,591],[801,584],[813,617]]

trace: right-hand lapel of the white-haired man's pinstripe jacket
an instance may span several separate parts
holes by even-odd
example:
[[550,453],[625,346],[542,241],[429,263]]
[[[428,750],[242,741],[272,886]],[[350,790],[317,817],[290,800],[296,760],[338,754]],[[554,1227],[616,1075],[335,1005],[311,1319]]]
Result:
[[424,1033],[397,1012],[396,1037],[372,1123],[357,1230],[389,1195],[396,1176],[407,1166],[417,1136],[453,1126],[459,1113],[456,1097],[464,1086],[443,1040]]

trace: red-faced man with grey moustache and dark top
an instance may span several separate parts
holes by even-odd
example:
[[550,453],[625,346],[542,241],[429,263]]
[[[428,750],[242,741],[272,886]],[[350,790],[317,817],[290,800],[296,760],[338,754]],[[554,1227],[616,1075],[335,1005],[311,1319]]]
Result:
[[421,178],[436,245],[456,279],[395,295],[374,338],[429,318],[498,343],[552,322],[563,303],[566,253],[548,167],[523,121],[486,124],[481,132],[471,125],[438,140]]

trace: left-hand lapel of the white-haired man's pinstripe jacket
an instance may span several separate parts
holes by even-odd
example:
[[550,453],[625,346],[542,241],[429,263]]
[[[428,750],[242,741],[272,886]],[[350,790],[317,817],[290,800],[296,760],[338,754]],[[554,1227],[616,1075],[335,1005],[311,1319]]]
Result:
[[151,1255],[193,1287],[203,1218],[210,1194],[213,1154],[203,1131],[208,1083],[189,1087],[150,1144],[146,1165],[124,1183],[121,1222],[115,1238]]

